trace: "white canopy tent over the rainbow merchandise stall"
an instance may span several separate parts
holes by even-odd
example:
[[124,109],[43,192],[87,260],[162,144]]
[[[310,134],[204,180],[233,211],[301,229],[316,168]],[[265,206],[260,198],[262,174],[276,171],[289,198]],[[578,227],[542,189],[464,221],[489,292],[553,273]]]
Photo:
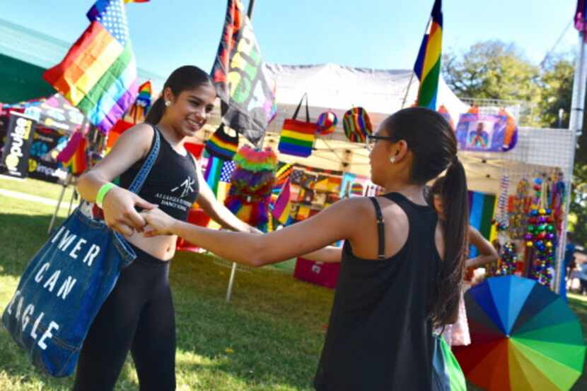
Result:
[[[373,131],[386,116],[410,106],[417,98],[419,81],[412,70],[378,70],[351,68],[335,64],[289,66],[266,64],[265,72],[276,85],[277,116],[267,128],[265,145],[277,150],[284,119],[291,118],[304,93],[308,94],[310,120],[327,110],[338,117],[337,130],[329,136],[318,137],[316,150],[303,164],[325,169],[341,169],[369,175],[368,152],[363,144],[350,143],[344,136],[342,117],[352,107],[364,107],[371,118]],[[412,78],[412,83],[410,83]],[[441,80],[438,104],[444,104],[458,120],[467,104]],[[298,119],[305,119],[302,108]],[[299,162],[298,157],[280,155],[285,162]]]

